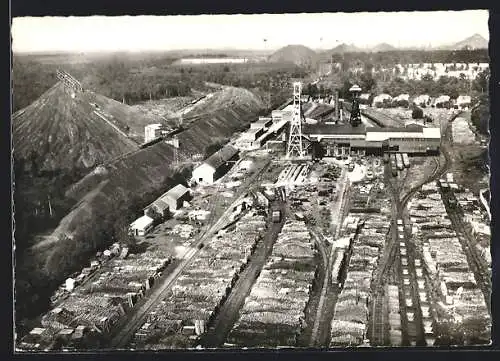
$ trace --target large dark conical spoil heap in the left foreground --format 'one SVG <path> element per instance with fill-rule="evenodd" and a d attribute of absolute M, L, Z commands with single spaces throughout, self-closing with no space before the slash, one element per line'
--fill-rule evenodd
<path fill-rule="evenodd" d="M 89 168 L 137 149 L 95 113 L 86 93 L 71 97 L 60 82 L 13 115 L 16 158 L 37 153 L 41 169 Z"/>

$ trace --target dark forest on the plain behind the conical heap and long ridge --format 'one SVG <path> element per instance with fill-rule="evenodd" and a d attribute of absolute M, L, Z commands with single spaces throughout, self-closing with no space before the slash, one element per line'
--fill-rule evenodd
<path fill-rule="evenodd" d="M 291 78 L 306 70 L 286 63 L 172 65 L 175 58 L 159 55 L 130 58 L 113 55 L 86 63 L 42 63 L 33 57 L 15 56 L 13 62 L 13 111 L 22 109 L 52 87 L 56 69 L 76 77 L 85 89 L 133 105 L 147 100 L 191 95 L 206 91 L 205 82 L 279 91 Z"/>

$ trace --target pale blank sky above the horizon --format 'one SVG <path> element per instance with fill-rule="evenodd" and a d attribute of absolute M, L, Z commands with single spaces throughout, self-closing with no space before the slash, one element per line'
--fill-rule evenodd
<path fill-rule="evenodd" d="M 14 52 L 278 49 L 341 43 L 439 46 L 473 34 L 489 39 L 486 10 L 196 16 L 21 17 Z M 264 42 L 267 39 L 267 42 Z"/>

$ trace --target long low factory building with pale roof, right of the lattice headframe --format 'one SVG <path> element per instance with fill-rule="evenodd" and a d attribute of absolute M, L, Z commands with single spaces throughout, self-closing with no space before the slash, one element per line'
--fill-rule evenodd
<path fill-rule="evenodd" d="M 439 152 L 441 144 L 439 128 L 415 124 L 391 128 L 306 124 L 303 134 L 314 144 L 313 149 L 322 149 L 327 157 L 386 152 L 435 154 Z"/>

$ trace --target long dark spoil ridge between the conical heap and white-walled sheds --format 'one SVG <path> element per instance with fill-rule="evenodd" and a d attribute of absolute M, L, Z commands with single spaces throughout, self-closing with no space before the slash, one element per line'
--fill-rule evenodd
<path fill-rule="evenodd" d="M 193 154 L 203 154 L 205 147 L 214 139 L 230 137 L 255 120 L 263 108 L 262 101 L 244 89 L 226 88 L 213 98 L 212 106 L 207 107 L 205 104 L 202 109 L 210 112 L 200 114 L 199 120 L 178 135 L 179 153 L 183 159 L 189 159 Z M 230 98 L 233 99 L 232 103 Z M 225 108 L 215 108 L 223 107 L 224 104 Z M 85 224 L 99 222 L 95 219 L 97 211 L 112 209 L 118 200 L 165 191 L 165 182 L 174 175 L 173 160 L 174 148 L 159 142 L 99 167 L 67 193 L 68 197 L 85 201 L 78 203 L 52 235 L 43 241 L 42 246 L 54 244 L 61 235 L 77 234 Z M 99 188 L 97 193 L 96 188 Z M 41 246 L 35 246 L 38 247 Z"/>

